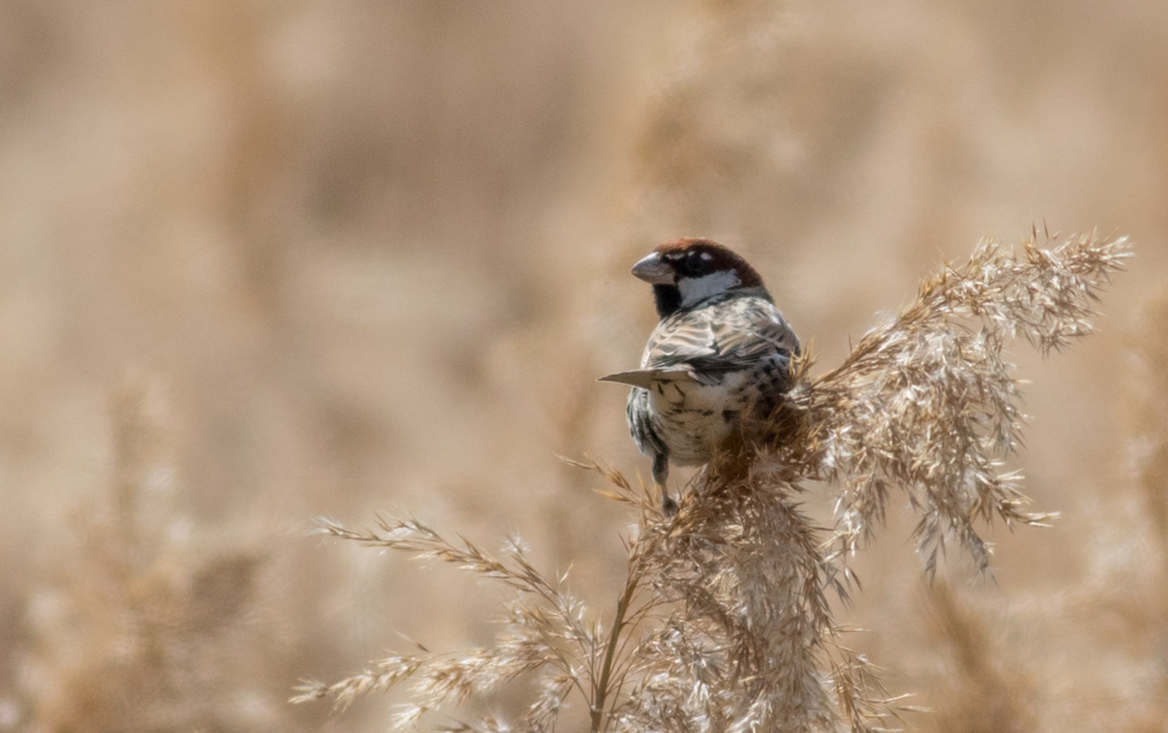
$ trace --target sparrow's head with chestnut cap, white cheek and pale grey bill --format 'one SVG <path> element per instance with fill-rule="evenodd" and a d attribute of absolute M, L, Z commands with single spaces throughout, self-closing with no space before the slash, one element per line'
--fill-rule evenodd
<path fill-rule="evenodd" d="M 666 242 L 633 265 L 633 274 L 653 286 L 662 319 L 728 291 L 750 288 L 769 298 L 746 260 L 709 239 Z"/>

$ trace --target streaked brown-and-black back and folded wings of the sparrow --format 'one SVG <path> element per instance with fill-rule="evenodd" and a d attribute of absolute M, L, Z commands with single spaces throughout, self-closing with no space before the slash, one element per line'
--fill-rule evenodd
<path fill-rule="evenodd" d="M 734 371 L 776 354 L 798 352 L 799 338 L 774 303 L 737 298 L 661 321 L 649 336 L 641 370 Z"/>

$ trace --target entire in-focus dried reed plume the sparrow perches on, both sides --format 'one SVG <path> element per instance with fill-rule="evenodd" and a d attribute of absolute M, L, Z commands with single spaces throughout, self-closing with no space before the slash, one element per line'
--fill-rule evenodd
<path fill-rule="evenodd" d="M 403 727 L 534 673 L 538 693 L 516 722 L 484 718 L 451 729 L 550 731 L 573 696 L 593 732 L 882 729 L 889 700 L 867 662 L 840 644 L 829 596 L 846 595 L 844 560 L 880 525 L 892 489 L 905 490 L 919 516 L 930 573 L 948 537 L 987 566 L 979 518 L 1048 518 L 1022 510 L 1027 498 L 1003 468 L 1022 416 L 1002 347 L 1022 335 L 1048 351 L 1090 333 L 1096 293 L 1127 243 L 1092 233 L 1048 244 L 1031 238 L 1014 253 L 983 243 L 968 263 L 927 280 L 840 368 L 812 378 L 809 361 L 798 365 L 769 439 L 711 462 L 673 517 L 651 491 L 590 465 L 639 519 L 606 626 L 564 578 L 536 571 L 517 542 L 495 558 L 413 519 L 357 531 L 325 522 L 332 536 L 452 563 L 516 593 L 489 649 L 392 656 L 332 685 L 310 683 L 294 699 L 343 707 L 409 680 Z M 799 509 L 808 480 L 836 493 L 833 531 Z"/>

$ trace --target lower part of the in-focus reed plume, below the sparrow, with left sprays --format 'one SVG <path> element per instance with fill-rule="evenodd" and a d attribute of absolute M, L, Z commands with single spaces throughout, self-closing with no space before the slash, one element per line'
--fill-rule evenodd
<path fill-rule="evenodd" d="M 793 487 L 757 477 L 721 482 L 708 473 L 700 482 L 711 490 L 688 494 L 668 519 L 652 490 L 633 489 L 614 469 L 585 467 L 604 474 L 616 487 L 609 496 L 640 519 L 607 627 L 590 620 L 563 578 L 538 573 L 519 542 L 496 558 L 416 519 L 382 519 L 375 530 L 325 521 L 321 530 L 334 537 L 451 563 L 516 596 L 488 649 L 419 648 L 333 684 L 307 683 L 293 700 L 329 698 L 343 708 L 409 679 L 411 703 L 395 721 L 403 728 L 536 672 L 538 692 L 516 725 L 484 718 L 450 729 L 551 731 L 573 693 L 591 731 L 829 731 L 840 708 L 851 729 L 875 729 L 868 721 L 883 711 L 867 697 L 867 663 L 830 643 L 837 629 L 825 586 L 833 572 Z"/>

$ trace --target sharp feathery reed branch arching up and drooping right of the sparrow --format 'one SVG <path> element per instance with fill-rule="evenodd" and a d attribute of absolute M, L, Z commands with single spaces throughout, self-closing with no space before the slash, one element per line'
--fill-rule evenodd
<path fill-rule="evenodd" d="M 1048 352 L 1091 333 L 1092 306 L 1128 257 L 1126 238 L 1037 232 L 1020 253 L 982 242 L 965 265 L 946 266 L 917 298 L 860 340 L 839 368 L 802 378 L 788 411 L 801 413 L 780 461 L 797 480 L 839 487 L 837 550 L 854 552 L 903 488 L 918 512 L 918 551 L 930 573 L 946 536 L 979 568 L 989 550 L 976 519 L 1043 524 L 1023 507 L 1003 459 L 1018 445 L 1022 414 L 1006 341 L 1022 336 Z"/>

